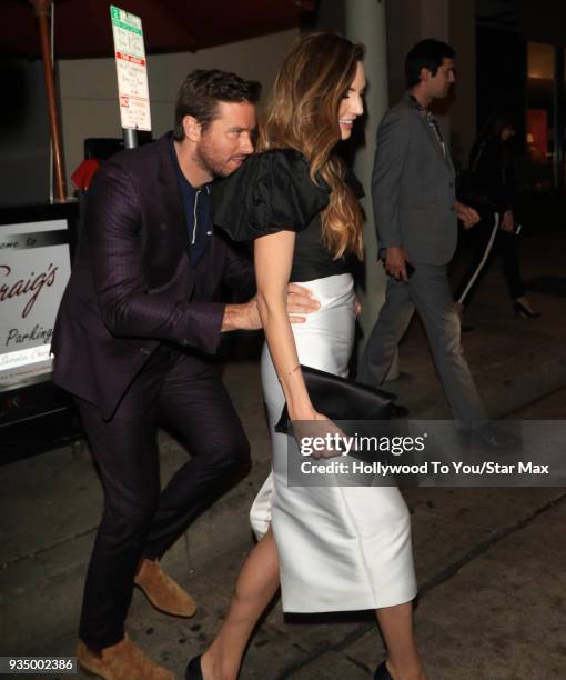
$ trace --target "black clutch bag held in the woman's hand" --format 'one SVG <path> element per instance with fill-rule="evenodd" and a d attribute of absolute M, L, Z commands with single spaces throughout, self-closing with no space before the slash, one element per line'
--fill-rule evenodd
<path fill-rule="evenodd" d="M 301 366 L 312 404 L 331 420 L 388 420 L 395 394 L 376 390 L 347 378 Z M 286 404 L 275 432 L 290 434 Z"/>

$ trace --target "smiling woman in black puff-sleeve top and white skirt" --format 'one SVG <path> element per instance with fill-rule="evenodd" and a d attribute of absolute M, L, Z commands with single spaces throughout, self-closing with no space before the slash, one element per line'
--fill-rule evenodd
<path fill-rule="evenodd" d="M 335 33 L 302 38 L 279 72 L 260 152 L 213 191 L 214 224 L 235 240 L 255 239 L 273 472 L 252 509 L 260 541 L 216 639 L 189 663 L 188 680 L 237 677 L 249 637 L 280 582 L 285 612 L 374 609 L 387 647 L 375 678 L 425 678 L 413 639 L 410 518 L 398 490 L 289 487 L 286 437 L 273 430 L 285 402 L 291 420 L 326 420 L 311 403 L 300 363 L 347 373 L 355 324 L 350 263 L 362 257 L 362 211 L 360 186 L 332 151 L 363 113 L 362 57 L 361 46 Z M 321 303 L 293 327 L 289 281 Z"/>

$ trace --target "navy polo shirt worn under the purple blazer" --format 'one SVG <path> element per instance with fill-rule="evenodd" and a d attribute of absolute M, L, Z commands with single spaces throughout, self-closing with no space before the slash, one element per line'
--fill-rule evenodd
<path fill-rule="evenodd" d="M 189 239 L 189 257 L 191 264 L 196 266 L 212 239 L 210 221 L 210 184 L 195 189 L 185 178 L 176 158 L 173 139 L 170 139 L 170 151 L 176 170 L 179 189 L 183 198 L 186 233 Z"/>

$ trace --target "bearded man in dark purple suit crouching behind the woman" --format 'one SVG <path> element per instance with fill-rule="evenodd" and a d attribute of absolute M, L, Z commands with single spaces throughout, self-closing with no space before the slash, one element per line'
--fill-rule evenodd
<path fill-rule="evenodd" d="M 110 159 L 88 197 L 53 339 L 54 382 L 73 394 L 104 488 L 79 629 L 81 664 L 103 678 L 173 678 L 133 644 L 124 621 L 134 582 L 158 609 L 194 613 L 160 569 L 190 522 L 249 468 L 249 443 L 212 366 L 222 332 L 261 327 L 253 268 L 209 218 L 210 184 L 253 151 L 260 84 L 193 71 L 172 133 Z M 290 311 L 316 303 L 291 287 Z M 191 458 L 161 492 L 158 423 Z"/>

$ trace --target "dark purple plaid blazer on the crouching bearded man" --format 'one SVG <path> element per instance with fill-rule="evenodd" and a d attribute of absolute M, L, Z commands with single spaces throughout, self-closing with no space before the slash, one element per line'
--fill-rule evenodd
<path fill-rule="evenodd" d="M 89 190 L 53 331 L 53 382 L 111 418 L 161 341 L 214 353 L 220 284 L 250 288 L 251 278 L 251 264 L 218 236 L 192 268 L 168 136 L 114 156 Z"/>

